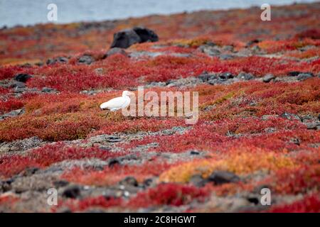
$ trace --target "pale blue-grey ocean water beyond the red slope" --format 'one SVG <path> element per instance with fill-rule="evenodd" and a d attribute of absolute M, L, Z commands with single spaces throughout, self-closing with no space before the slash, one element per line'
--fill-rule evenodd
<path fill-rule="evenodd" d="M 0 27 L 48 23 L 48 4 L 58 6 L 58 21 L 104 21 L 202 9 L 232 9 L 312 2 L 313 0 L 0 0 Z"/>

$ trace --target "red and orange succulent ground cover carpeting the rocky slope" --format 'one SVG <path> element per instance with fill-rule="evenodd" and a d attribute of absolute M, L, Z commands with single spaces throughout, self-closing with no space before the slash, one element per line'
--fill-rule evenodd
<path fill-rule="evenodd" d="M 319 9 L 274 7 L 271 22 L 252 8 L 1 30 L 0 211 L 319 212 Z M 137 25 L 159 42 L 105 57 L 113 33 Z M 46 64 L 55 57 L 68 61 Z M 252 79 L 199 82 L 225 72 Z M 15 85 L 21 73 L 32 78 Z M 198 122 L 105 118 L 102 102 L 139 85 L 198 92 Z M 250 200 L 262 187 L 270 206 Z"/>

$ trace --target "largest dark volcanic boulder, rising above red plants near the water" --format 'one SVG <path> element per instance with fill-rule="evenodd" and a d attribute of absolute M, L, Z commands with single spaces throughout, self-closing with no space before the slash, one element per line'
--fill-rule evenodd
<path fill-rule="evenodd" d="M 158 41 L 158 35 L 149 28 L 133 28 L 119 31 L 113 35 L 113 42 L 111 48 L 129 48 L 135 43 L 144 43 L 147 41 Z"/>

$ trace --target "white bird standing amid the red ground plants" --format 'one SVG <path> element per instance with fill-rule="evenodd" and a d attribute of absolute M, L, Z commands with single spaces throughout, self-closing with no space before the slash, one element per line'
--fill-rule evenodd
<path fill-rule="evenodd" d="M 110 99 L 107 102 L 104 102 L 100 105 L 102 110 L 108 109 L 110 111 L 117 111 L 119 109 L 124 109 L 130 104 L 130 96 L 134 95 L 132 92 L 124 91 L 122 92 L 121 97 L 117 97 L 114 99 Z M 108 116 L 109 112 L 107 112 L 106 117 Z"/>

